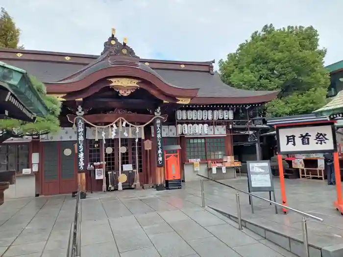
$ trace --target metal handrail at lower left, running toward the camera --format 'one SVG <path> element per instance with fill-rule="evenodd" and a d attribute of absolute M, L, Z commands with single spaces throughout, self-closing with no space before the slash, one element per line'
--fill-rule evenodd
<path fill-rule="evenodd" d="M 67 257 L 81 256 L 81 192 L 77 190 L 74 220 L 71 224 L 70 235 L 68 240 Z"/>

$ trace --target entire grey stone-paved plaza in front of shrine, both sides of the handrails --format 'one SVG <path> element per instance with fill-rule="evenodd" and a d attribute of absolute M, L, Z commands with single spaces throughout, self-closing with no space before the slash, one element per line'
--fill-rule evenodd
<path fill-rule="evenodd" d="M 246 178 L 222 181 L 246 189 Z M 235 191 L 206 181 L 206 205 L 236 213 Z M 278 181 L 275 180 L 280 201 Z M 336 193 L 321 181 L 286 180 L 289 205 L 324 218 L 309 221 L 310 242 L 343 243 L 343 217 L 332 206 Z M 258 193 L 268 197 L 267 193 Z M 301 235 L 301 216 L 274 214 L 269 204 L 241 194 L 242 216 Z M 71 195 L 6 201 L 0 206 L 0 255 L 65 257 L 75 199 Z M 295 257 L 209 208 L 201 208 L 199 182 L 182 189 L 123 190 L 82 200 L 82 257 Z"/>

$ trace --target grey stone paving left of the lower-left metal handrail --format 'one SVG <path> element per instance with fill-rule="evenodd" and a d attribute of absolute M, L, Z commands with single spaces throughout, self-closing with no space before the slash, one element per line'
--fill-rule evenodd
<path fill-rule="evenodd" d="M 5 201 L 0 206 L 0 256 L 66 257 L 74 209 L 70 195 Z"/>

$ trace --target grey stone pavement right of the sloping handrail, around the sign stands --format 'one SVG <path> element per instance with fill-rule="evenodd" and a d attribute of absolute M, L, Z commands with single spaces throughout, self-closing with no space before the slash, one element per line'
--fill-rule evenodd
<path fill-rule="evenodd" d="M 221 180 L 222 183 L 247 190 L 247 178 Z M 199 183 L 189 183 L 187 191 L 200 199 Z M 325 247 L 330 245 L 343 244 L 343 216 L 333 206 L 333 201 L 337 199 L 334 186 L 328 186 L 326 181 L 320 180 L 285 180 L 288 206 L 307 212 L 324 219 L 321 223 L 308 219 L 309 243 Z M 276 201 L 281 202 L 281 192 L 279 179 L 274 179 Z M 192 191 L 193 190 L 193 191 Z M 236 191 L 216 184 L 211 181 L 204 182 L 206 205 L 218 208 L 227 213 L 237 215 Z M 265 198 L 269 198 L 268 192 L 254 192 Z M 279 208 L 279 214 L 275 214 L 273 206 L 259 199 L 254 199 L 254 214 L 248 202 L 248 196 L 240 193 L 242 218 L 260 226 L 278 231 L 281 234 L 293 236 L 302 240 L 301 215 L 289 211 L 283 213 Z"/>

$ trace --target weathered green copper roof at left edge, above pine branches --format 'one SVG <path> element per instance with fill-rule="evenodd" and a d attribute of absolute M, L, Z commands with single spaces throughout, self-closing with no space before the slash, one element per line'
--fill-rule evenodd
<path fill-rule="evenodd" d="M 0 81 L 32 114 L 39 117 L 48 115 L 48 107 L 33 87 L 25 70 L 0 62 Z"/>

